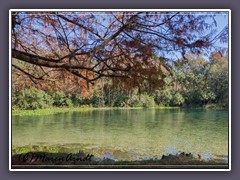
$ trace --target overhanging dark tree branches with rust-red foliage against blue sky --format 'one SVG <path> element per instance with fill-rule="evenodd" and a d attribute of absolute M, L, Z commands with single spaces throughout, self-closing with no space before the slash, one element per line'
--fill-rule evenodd
<path fill-rule="evenodd" d="M 102 77 L 122 87 L 162 86 L 165 59 L 198 53 L 226 40 L 213 36 L 214 13 L 199 12 L 12 12 L 12 66 L 38 83 Z M 14 71 L 14 72 L 15 72 Z M 54 84 L 54 83 L 53 83 Z"/>

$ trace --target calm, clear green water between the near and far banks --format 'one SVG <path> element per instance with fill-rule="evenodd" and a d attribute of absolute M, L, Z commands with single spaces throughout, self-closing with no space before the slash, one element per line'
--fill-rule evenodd
<path fill-rule="evenodd" d="M 206 110 L 91 110 L 12 117 L 12 144 L 79 144 L 132 157 L 177 151 L 228 155 L 228 112 Z"/>

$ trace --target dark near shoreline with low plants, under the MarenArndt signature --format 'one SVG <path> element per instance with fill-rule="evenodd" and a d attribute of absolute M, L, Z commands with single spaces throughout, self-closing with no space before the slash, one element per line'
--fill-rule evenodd
<path fill-rule="evenodd" d="M 112 168 L 126 168 L 131 166 L 132 168 L 218 168 L 219 166 L 228 167 L 228 157 L 227 156 L 212 156 L 212 158 L 204 159 L 200 155 L 196 156 L 192 153 L 186 153 L 179 151 L 176 154 L 162 154 L 158 157 L 141 157 L 140 159 L 127 158 L 119 159 L 114 153 L 107 153 L 104 156 L 97 155 L 91 150 L 86 150 L 83 147 L 80 148 L 78 152 L 73 149 L 64 149 L 62 146 L 25 146 L 25 147 L 14 147 L 12 150 L 12 165 L 16 167 L 29 166 L 32 168 L 41 166 L 41 168 L 58 166 L 69 166 L 69 168 L 74 168 L 74 166 L 87 166 L 83 168 L 102 167 L 102 166 L 113 166 Z M 124 152 L 122 152 L 124 153 Z M 125 152 L 127 153 L 127 152 Z M 70 160 L 69 160 L 69 157 Z M 89 157 L 93 157 L 92 159 Z M 121 157 L 121 156 L 120 156 Z M 227 158 L 227 159 L 225 159 Z M 80 161 L 79 161 L 80 159 Z M 82 161 L 81 159 L 88 159 Z M 56 166 L 57 165 L 57 166 Z M 115 166 L 115 167 L 114 167 Z"/>

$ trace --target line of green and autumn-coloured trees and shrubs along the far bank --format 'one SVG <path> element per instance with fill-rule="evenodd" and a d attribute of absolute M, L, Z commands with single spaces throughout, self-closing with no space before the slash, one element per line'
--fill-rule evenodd
<path fill-rule="evenodd" d="M 82 81 L 73 88 L 66 81 L 53 86 L 44 86 L 44 83 L 39 86 L 17 76 L 13 71 L 13 81 L 16 83 L 12 85 L 12 106 L 13 109 L 81 106 L 227 109 L 228 54 L 213 52 L 209 58 L 187 55 L 187 59 L 188 63 L 184 59 L 172 62 L 165 59 L 171 73 L 164 79 L 163 86 L 156 86 L 159 88 L 144 83 L 141 87 L 127 88 L 110 79 L 99 79 L 91 86 Z"/>

